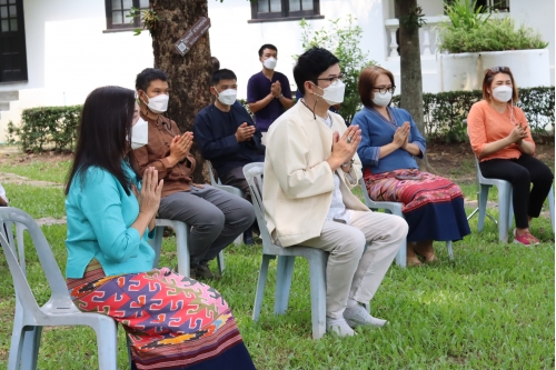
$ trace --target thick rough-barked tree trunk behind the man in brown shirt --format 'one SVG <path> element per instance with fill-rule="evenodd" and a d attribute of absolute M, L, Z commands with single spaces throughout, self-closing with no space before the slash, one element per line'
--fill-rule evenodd
<path fill-rule="evenodd" d="M 155 68 L 168 73 L 170 101 L 166 116 L 176 121 L 181 132 L 192 131 L 195 116 L 210 104 L 210 61 L 209 34 L 206 32 L 181 57 L 175 43 L 200 18 L 208 18 L 207 0 L 150 0 L 160 20 L 150 30 L 155 52 Z M 193 182 L 208 182 L 205 160 L 196 144 L 191 154 L 197 160 Z"/>

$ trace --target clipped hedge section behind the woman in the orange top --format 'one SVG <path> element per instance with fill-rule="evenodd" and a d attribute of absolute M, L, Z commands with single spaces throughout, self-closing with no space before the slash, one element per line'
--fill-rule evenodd
<path fill-rule="evenodd" d="M 554 87 L 519 89 L 517 107 L 522 108 L 535 137 L 554 137 Z M 399 96 L 393 104 L 399 107 Z M 423 93 L 425 134 L 429 140 L 467 141 L 463 120 L 471 106 L 483 99 L 480 90 Z"/>

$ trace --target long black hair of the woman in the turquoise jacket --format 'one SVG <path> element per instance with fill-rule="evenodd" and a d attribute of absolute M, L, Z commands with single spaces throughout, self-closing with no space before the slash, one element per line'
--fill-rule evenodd
<path fill-rule="evenodd" d="M 73 164 L 68 174 L 64 192 L 68 194 L 77 176 L 85 183 L 87 170 L 98 167 L 111 173 L 130 194 L 130 179 L 121 167 L 129 149 L 135 110 L 135 91 L 108 86 L 97 88 L 85 100 L 78 128 Z"/>

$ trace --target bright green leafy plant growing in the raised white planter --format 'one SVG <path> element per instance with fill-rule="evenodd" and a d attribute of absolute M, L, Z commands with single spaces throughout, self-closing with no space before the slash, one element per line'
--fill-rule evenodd
<path fill-rule="evenodd" d="M 475 9 L 475 10 L 473 10 Z M 445 6 L 449 22 L 439 26 L 439 50 L 449 53 L 544 49 L 547 42 L 540 34 L 520 26 L 516 29 L 510 18 L 494 19 L 481 13 L 469 0 L 457 0 Z"/>

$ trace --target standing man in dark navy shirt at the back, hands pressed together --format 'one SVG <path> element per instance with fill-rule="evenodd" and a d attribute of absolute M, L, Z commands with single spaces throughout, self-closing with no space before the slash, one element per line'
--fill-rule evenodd
<path fill-rule="evenodd" d="M 274 44 L 266 43 L 259 49 L 259 60 L 262 71 L 251 76 L 247 83 L 247 102 L 255 114 L 257 129 L 265 136 L 272 122 L 294 106 L 288 78 L 276 72 L 278 49 Z"/>

